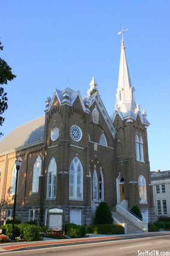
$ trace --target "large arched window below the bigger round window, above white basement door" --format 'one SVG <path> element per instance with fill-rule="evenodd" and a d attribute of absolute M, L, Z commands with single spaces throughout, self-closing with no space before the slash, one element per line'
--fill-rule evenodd
<path fill-rule="evenodd" d="M 70 164 L 69 198 L 83 199 L 83 167 L 78 157 L 73 158 Z"/>

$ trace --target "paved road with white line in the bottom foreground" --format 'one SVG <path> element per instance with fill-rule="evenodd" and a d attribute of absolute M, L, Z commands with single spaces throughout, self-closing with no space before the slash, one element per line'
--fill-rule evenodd
<path fill-rule="evenodd" d="M 144 253 L 144 254 L 143 254 Z M 158 254 L 157 254 L 158 253 Z M 163 253 L 163 254 L 162 254 Z M 0 253 L 8 256 L 170 256 L 170 235 Z"/>

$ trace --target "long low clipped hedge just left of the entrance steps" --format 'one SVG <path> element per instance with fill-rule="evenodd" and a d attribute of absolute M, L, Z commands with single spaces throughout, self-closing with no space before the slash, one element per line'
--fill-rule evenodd
<path fill-rule="evenodd" d="M 118 224 L 89 225 L 87 232 L 93 234 L 124 234 L 124 228 Z"/>

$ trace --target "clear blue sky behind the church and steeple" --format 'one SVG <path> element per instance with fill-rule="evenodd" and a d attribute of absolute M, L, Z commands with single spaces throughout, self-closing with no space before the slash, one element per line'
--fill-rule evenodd
<path fill-rule="evenodd" d="M 170 1 L 6 0 L 0 4 L 1 57 L 17 77 L 0 130 L 44 114 L 54 89 L 80 89 L 92 76 L 110 115 L 116 101 L 122 25 L 135 100 L 146 107 L 151 170 L 170 170 Z M 0 138 L 2 139 L 2 138 Z"/>

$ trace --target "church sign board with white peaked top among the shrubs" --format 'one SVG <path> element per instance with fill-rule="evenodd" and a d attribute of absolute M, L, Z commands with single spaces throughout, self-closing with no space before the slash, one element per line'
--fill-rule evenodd
<path fill-rule="evenodd" d="M 63 210 L 54 208 L 48 211 L 47 230 L 63 231 Z"/>

